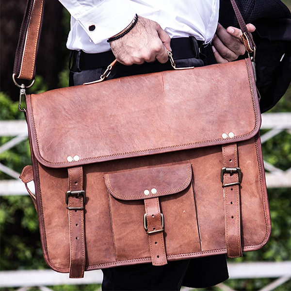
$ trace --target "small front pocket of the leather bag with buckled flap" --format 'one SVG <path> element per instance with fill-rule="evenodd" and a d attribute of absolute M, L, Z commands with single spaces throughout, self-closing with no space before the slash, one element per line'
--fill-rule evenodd
<path fill-rule="evenodd" d="M 151 258 L 162 265 L 167 256 L 201 252 L 190 163 L 107 173 L 104 178 L 117 261 Z"/>

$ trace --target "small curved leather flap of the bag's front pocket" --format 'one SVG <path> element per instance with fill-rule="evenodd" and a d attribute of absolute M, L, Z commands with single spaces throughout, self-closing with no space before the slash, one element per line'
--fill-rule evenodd
<path fill-rule="evenodd" d="M 192 179 L 191 164 L 170 164 L 104 175 L 108 191 L 121 200 L 138 200 L 174 194 Z"/>

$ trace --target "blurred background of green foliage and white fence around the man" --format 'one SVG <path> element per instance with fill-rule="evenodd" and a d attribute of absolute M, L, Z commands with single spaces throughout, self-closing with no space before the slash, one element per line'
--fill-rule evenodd
<path fill-rule="evenodd" d="M 291 9 L 291 0 L 283 2 Z M 31 164 L 24 116 L 17 108 L 19 89 L 11 79 L 25 5 L 24 0 L 6 0 L 1 1 L 0 7 L 0 290 L 99 290 L 100 272 L 87 272 L 92 274 L 90 278 L 77 283 L 74 279 L 68 281 L 67 274 L 53 277 L 53 271 L 46 271 L 49 268 L 43 259 L 37 213 L 16 180 L 22 168 Z M 46 1 L 37 75 L 29 93 L 68 86 L 65 42 L 69 24 L 70 16 L 62 5 L 57 0 Z M 272 110 L 263 114 L 261 136 L 273 227 L 271 239 L 259 251 L 229 259 L 230 279 L 224 284 L 199 290 L 291 290 L 291 87 Z"/>

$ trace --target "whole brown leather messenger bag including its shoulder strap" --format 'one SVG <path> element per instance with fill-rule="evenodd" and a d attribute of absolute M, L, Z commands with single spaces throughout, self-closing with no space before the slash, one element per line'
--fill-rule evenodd
<path fill-rule="evenodd" d="M 14 80 L 34 78 L 42 13 L 43 0 L 28 1 Z M 252 60 L 100 82 L 110 65 L 95 83 L 37 95 L 18 85 L 32 154 L 20 178 L 34 180 L 52 269 L 79 278 L 122 265 L 240 257 L 268 241 Z"/>

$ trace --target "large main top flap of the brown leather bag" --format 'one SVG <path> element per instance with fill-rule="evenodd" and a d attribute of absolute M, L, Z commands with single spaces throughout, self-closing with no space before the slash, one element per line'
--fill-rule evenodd
<path fill-rule="evenodd" d="M 249 59 L 28 95 L 27 119 L 55 168 L 240 142 L 261 122 Z"/>

